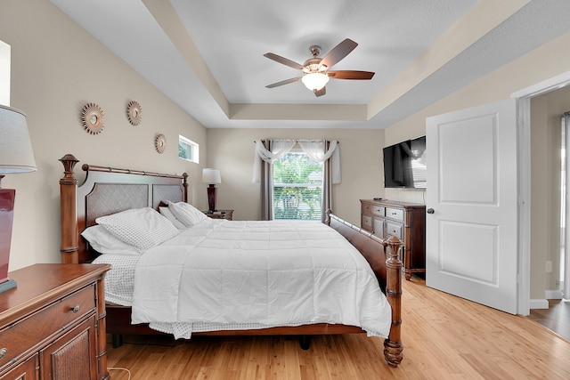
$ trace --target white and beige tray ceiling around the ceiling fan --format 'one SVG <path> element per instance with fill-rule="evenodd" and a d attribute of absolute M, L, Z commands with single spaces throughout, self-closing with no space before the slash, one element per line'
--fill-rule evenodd
<path fill-rule="evenodd" d="M 52 0 L 206 127 L 384 128 L 570 29 L 567 0 Z M 88 10 L 88 12 L 86 12 Z M 315 97 L 309 47 L 359 45 Z"/>

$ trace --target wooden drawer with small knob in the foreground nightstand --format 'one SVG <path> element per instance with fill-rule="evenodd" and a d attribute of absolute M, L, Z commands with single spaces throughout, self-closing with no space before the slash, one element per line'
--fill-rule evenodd
<path fill-rule="evenodd" d="M 95 286 L 91 285 L 4 328 L 0 331 L 0 370 L 33 349 L 30 342 L 38 345 L 63 333 L 95 309 Z"/>

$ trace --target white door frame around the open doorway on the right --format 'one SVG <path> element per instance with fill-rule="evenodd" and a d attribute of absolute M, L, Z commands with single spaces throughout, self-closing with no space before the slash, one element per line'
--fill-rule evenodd
<path fill-rule="evenodd" d="M 530 313 L 531 295 L 531 99 L 570 85 L 570 71 L 511 93 L 517 100 L 518 314 Z"/>

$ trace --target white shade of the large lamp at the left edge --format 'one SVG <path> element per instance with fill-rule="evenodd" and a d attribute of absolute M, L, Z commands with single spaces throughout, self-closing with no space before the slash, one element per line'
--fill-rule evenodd
<path fill-rule="evenodd" d="M 0 105 L 0 174 L 37 170 L 26 115 Z"/>

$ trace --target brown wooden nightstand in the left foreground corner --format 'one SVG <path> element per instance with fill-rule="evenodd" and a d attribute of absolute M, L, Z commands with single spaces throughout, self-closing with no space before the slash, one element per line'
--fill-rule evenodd
<path fill-rule="evenodd" d="M 35 264 L 0 293 L 0 380 L 102 380 L 108 264 Z"/>

